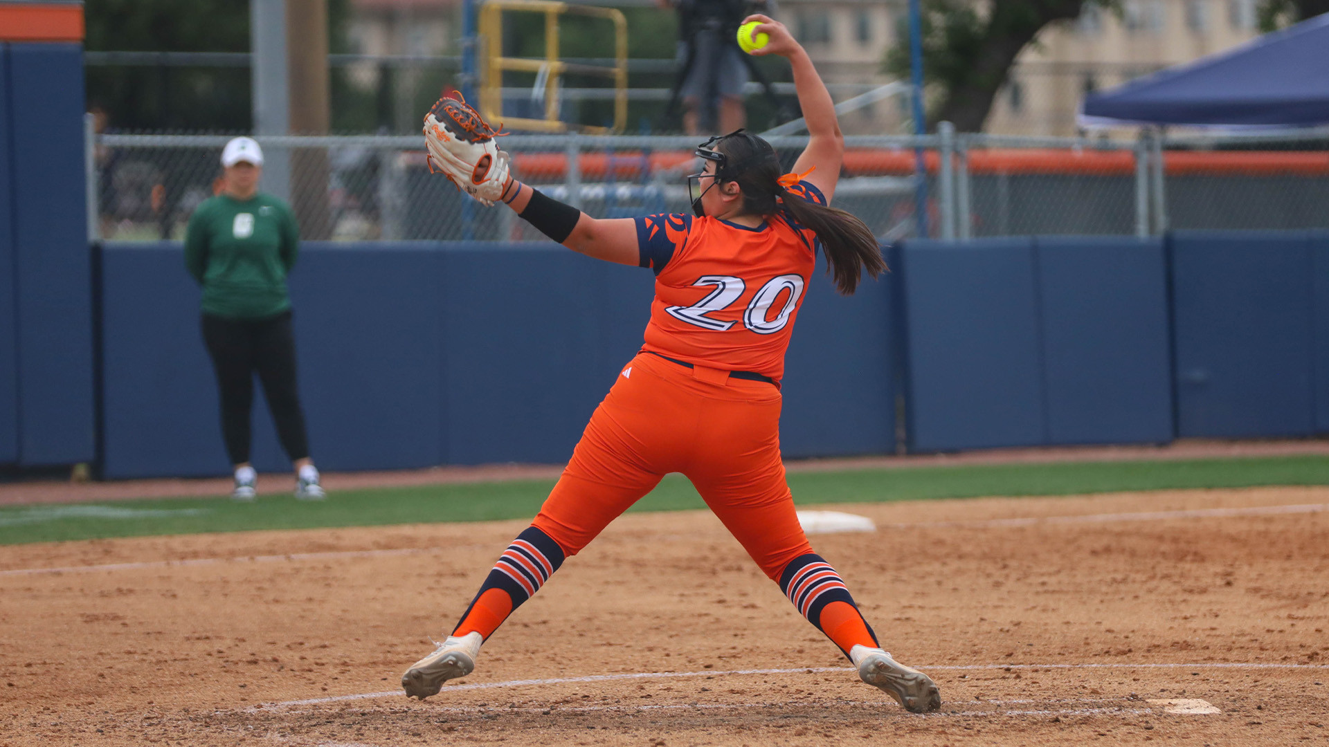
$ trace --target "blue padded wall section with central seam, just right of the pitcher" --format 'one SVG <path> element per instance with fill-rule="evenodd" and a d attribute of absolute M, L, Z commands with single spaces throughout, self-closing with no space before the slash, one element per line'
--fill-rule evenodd
<path fill-rule="evenodd" d="M 1172 439 L 1159 239 L 910 241 L 912 451 Z"/>

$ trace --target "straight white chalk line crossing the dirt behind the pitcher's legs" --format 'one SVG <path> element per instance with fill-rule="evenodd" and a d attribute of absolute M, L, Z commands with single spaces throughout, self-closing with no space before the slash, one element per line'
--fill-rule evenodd
<path fill-rule="evenodd" d="M 1034 518 L 987 518 L 979 521 L 920 521 L 914 524 L 884 524 L 884 529 L 920 529 L 938 526 L 962 526 L 978 529 L 995 529 L 1009 526 L 1033 526 L 1038 524 L 1100 524 L 1110 521 L 1170 521 L 1174 518 L 1223 518 L 1237 516 L 1280 516 L 1297 513 L 1329 512 L 1329 504 L 1301 504 L 1281 506 L 1252 506 L 1252 508 L 1201 508 L 1185 510 L 1158 510 L 1142 513 L 1094 513 L 1087 516 L 1045 516 Z M 469 545 L 468 549 L 478 549 L 481 545 Z M 336 550 L 326 553 L 288 553 L 280 556 L 239 556 L 230 558 L 191 558 L 167 561 L 117 562 L 104 565 L 70 565 L 64 568 L 19 568 L 0 570 L 4 576 L 39 576 L 58 573 L 92 573 L 98 570 L 142 570 L 150 568 L 177 568 L 213 565 L 225 562 L 278 562 L 278 561 L 307 561 L 307 560 L 335 560 L 335 558 L 369 558 L 387 556 L 408 556 L 417 553 L 433 553 L 453 548 L 401 548 L 396 550 Z"/>

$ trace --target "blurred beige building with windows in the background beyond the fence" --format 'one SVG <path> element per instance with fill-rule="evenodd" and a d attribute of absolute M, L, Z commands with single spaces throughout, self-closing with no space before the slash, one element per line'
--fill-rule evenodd
<path fill-rule="evenodd" d="M 603 0 L 597 0 L 603 4 Z M 613 3 L 609 3 L 613 4 Z M 625 5 L 654 0 L 623 0 Z M 1259 35 L 1259 0 L 1122 0 L 1120 13 L 1088 7 L 1057 23 L 1017 58 L 998 92 L 985 130 L 1071 136 L 1084 93 L 1228 49 Z M 355 52 L 407 57 L 459 53 L 461 0 L 351 0 L 348 36 Z M 829 84 L 885 85 L 882 60 L 908 39 L 908 0 L 779 0 L 777 16 L 808 49 Z M 400 124 L 415 118 L 417 92 L 435 94 L 439 70 L 427 64 L 361 62 L 351 80 L 391 97 Z M 395 80 L 388 80 L 395 78 Z M 396 93 L 391 93 L 396 92 Z M 425 97 L 428 97 L 425 94 Z M 837 90 L 843 100 L 852 93 Z M 392 129 L 392 122 L 385 122 Z M 841 117 L 847 133 L 900 133 L 909 128 L 905 97 Z"/>

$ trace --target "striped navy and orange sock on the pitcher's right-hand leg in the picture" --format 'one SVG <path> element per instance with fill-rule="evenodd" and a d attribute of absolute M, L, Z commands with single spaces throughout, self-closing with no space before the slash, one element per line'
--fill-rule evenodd
<path fill-rule="evenodd" d="M 780 574 L 780 590 L 845 657 L 857 645 L 880 647 L 877 634 L 853 603 L 849 587 L 821 556 L 808 553 L 789 561 Z"/>

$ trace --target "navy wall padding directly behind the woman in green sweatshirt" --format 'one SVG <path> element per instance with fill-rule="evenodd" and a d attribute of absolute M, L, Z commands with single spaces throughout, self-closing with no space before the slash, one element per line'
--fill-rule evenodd
<path fill-rule="evenodd" d="M 102 257 L 106 475 L 229 472 L 199 291 L 179 245 L 110 245 Z M 290 284 L 315 463 L 334 471 L 443 463 L 437 245 L 307 243 Z M 290 471 L 256 381 L 253 428 L 255 467 Z"/>

